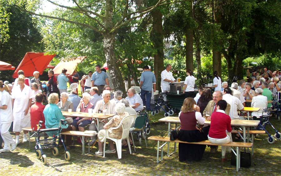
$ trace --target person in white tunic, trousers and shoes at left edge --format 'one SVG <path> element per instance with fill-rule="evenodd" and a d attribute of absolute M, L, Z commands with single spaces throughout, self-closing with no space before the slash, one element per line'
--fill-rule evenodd
<path fill-rule="evenodd" d="M 9 128 L 13 121 L 13 111 L 9 87 L 4 85 L 2 81 L 0 81 L 0 92 L 0 131 L 4 141 L 4 148 L 0 152 L 9 152 L 16 149 L 16 142 L 13 141 L 9 133 Z"/>

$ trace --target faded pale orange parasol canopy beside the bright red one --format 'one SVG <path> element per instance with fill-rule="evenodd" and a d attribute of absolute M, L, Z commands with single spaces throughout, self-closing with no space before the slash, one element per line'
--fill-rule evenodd
<path fill-rule="evenodd" d="M 79 56 L 77 58 L 71 58 L 69 61 L 61 61 L 53 69 L 55 76 L 58 76 L 62 73 L 62 69 L 67 69 L 66 76 L 70 76 L 75 71 L 78 63 L 81 63 L 86 56 Z"/>

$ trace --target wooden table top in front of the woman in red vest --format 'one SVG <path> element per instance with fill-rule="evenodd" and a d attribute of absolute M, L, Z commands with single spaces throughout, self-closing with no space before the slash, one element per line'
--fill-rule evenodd
<path fill-rule="evenodd" d="M 158 120 L 159 122 L 180 123 L 179 117 L 164 117 Z M 231 126 L 257 127 L 259 120 L 231 120 Z M 210 125 L 211 121 L 205 120 L 205 125 Z"/>

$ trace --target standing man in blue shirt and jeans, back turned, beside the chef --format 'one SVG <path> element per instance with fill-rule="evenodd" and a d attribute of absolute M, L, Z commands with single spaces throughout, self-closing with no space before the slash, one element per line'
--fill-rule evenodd
<path fill-rule="evenodd" d="M 148 66 L 143 67 L 143 72 L 141 73 L 141 99 L 143 104 L 146 106 L 146 110 L 151 110 L 150 108 L 150 100 L 152 94 L 152 85 L 153 85 L 153 92 L 156 91 L 155 88 L 155 75 L 149 70 Z"/>

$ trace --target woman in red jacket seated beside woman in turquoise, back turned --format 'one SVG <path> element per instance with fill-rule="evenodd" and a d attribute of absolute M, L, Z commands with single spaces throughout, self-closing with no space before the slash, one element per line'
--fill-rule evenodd
<path fill-rule="evenodd" d="M 43 98 L 44 98 L 44 95 L 42 93 L 36 94 L 35 95 L 35 104 L 33 104 L 30 107 L 30 123 L 31 123 L 31 129 L 33 131 L 37 130 L 37 125 L 39 124 L 39 121 L 43 122 L 41 129 L 45 129 L 45 117 L 43 114 L 45 105 L 42 105 Z"/>

